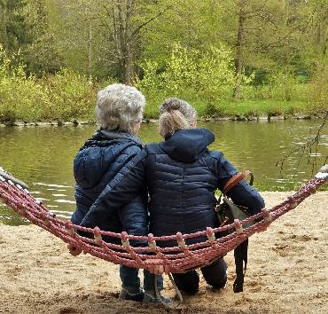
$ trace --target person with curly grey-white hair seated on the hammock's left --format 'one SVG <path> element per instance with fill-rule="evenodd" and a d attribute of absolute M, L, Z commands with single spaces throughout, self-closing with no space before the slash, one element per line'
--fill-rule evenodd
<path fill-rule="evenodd" d="M 144 145 L 137 137 L 137 132 L 143 118 L 144 104 L 142 93 L 127 85 L 112 84 L 98 91 L 96 117 L 100 128 L 82 145 L 74 159 L 76 210 L 71 219 L 73 224 L 82 222 L 105 186 L 143 148 Z M 103 208 L 105 215 L 92 219 L 90 225 L 98 226 L 103 231 L 125 231 L 134 235 L 147 235 L 147 201 L 146 189 L 139 189 L 120 210 Z M 81 233 L 88 236 L 85 234 L 87 232 Z M 121 245 L 121 239 L 113 237 L 103 237 L 103 239 Z M 131 245 L 146 246 L 147 242 L 131 241 Z M 68 249 L 72 255 L 81 253 L 81 250 L 72 245 L 69 245 Z M 153 297 L 144 299 L 138 271 L 120 265 L 122 289 L 119 298 L 139 302 L 160 302 L 154 297 L 154 275 L 149 271 L 144 271 L 144 291 Z M 157 280 L 158 288 L 161 290 L 163 279 L 158 277 Z M 165 301 L 170 300 L 165 298 Z"/>

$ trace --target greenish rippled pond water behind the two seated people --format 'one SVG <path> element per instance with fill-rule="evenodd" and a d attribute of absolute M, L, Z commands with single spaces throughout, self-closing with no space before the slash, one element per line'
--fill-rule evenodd
<path fill-rule="evenodd" d="M 260 191 L 275 191 L 299 188 L 324 164 L 328 156 L 327 126 L 311 150 L 303 149 L 316 137 L 323 122 L 219 121 L 199 122 L 197 126 L 215 133 L 210 149 L 223 151 L 239 171 L 254 173 Z M 75 208 L 74 156 L 96 129 L 96 125 L 1 127 L 0 167 L 28 184 L 35 199 L 43 200 L 60 219 L 69 219 Z M 143 123 L 138 136 L 145 144 L 161 140 L 156 123 Z M 279 161 L 289 154 L 281 169 Z M 0 205 L 0 223 L 28 224 L 4 204 Z"/>

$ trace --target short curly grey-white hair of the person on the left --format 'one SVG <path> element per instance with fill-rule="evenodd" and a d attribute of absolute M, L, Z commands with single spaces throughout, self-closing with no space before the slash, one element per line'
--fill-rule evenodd
<path fill-rule="evenodd" d="M 144 95 L 135 87 L 115 83 L 98 91 L 95 114 L 100 128 L 132 133 L 143 119 Z"/>

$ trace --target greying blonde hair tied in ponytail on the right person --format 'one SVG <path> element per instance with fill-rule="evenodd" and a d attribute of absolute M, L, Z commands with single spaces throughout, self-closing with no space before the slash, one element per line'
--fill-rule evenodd
<path fill-rule="evenodd" d="M 191 129 L 197 122 L 195 108 L 179 98 L 168 98 L 160 105 L 159 130 L 165 137 L 176 130 Z"/>

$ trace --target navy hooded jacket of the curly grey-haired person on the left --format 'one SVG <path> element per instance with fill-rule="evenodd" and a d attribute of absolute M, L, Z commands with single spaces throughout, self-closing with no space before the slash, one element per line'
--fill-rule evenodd
<path fill-rule="evenodd" d="M 97 130 L 88 139 L 74 159 L 76 210 L 72 216 L 73 224 L 80 224 L 98 199 L 105 186 L 143 147 L 141 140 L 133 134 Z M 101 230 L 129 234 L 147 234 L 147 192 L 138 189 L 127 205 L 108 208 L 102 204 L 102 216 L 90 219 L 89 227 L 98 226 Z M 88 233 L 83 234 L 88 236 Z M 89 234 L 90 236 L 90 234 Z M 103 237 L 106 241 L 121 244 L 121 239 Z M 142 243 L 132 243 L 134 246 Z"/>

